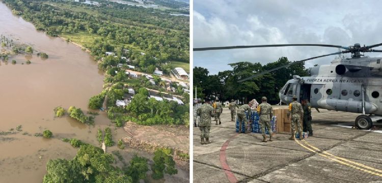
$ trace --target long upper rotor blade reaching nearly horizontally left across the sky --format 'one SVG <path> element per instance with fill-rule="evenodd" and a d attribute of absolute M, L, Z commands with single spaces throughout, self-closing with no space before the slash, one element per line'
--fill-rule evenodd
<path fill-rule="evenodd" d="M 205 48 L 194 48 L 194 51 L 206 51 L 206 50 L 223 50 L 223 49 L 240 49 L 240 48 L 264 48 L 264 47 L 283 47 L 283 46 L 322 46 L 322 47 L 332 47 L 341 48 L 349 50 L 349 47 L 339 46 L 339 45 L 328 45 L 328 44 L 273 44 L 273 45 L 252 45 L 252 46 L 223 46 L 223 47 L 205 47 Z M 374 45 L 372 45 L 374 46 Z"/>

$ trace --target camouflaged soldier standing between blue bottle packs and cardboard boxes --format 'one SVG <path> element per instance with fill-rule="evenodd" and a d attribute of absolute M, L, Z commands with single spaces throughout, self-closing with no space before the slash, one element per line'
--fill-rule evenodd
<path fill-rule="evenodd" d="M 260 128 L 261 128 L 261 133 L 263 134 L 263 142 L 266 142 L 266 137 L 265 137 L 265 126 L 268 129 L 269 132 L 269 141 L 272 140 L 272 127 L 270 126 L 270 119 L 273 116 L 272 113 L 272 106 L 266 102 L 266 97 L 261 98 L 261 104 L 257 107 L 257 113 L 259 114 L 260 117 Z"/>

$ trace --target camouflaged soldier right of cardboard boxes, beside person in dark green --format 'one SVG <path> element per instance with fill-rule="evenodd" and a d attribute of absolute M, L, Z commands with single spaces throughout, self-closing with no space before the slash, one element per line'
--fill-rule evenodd
<path fill-rule="evenodd" d="M 293 102 L 289 104 L 288 118 L 292 114 L 292 120 L 290 123 L 290 128 L 292 130 L 292 136 L 289 140 L 294 140 L 295 126 L 297 126 L 298 133 L 300 135 L 300 140 L 303 140 L 303 132 L 301 131 L 301 116 L 304 114 L 303 107 L 297 102 L 297 97 L 293 96 Z"/>

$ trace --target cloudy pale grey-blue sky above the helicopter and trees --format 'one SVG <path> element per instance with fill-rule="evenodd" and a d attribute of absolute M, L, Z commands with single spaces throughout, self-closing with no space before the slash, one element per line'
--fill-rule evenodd
<path fill-rule="evenodd" d="M 350 3 L 352 2 L 352 3 Z M 194 48 L 260 44 L 382 43 L 382 1 L 194 0 Z M 382 49 L 378 47 L 376 49 Z M 301 60 L 337 52 L 337 48 L 283 47 L 196 51 L 194 67 L 210 74 L 231 70 L 227 64 L 267 64 L 286 56 Z M 366 53 L 382 56 L 380 53 Z M 350 56 L 350 54 L 345 54 Z M 335 56 L 306 62 L 330 64 Z"/>

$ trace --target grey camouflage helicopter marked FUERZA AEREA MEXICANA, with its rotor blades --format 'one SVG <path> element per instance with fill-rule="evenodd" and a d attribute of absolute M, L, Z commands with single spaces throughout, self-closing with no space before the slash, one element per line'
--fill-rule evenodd
<path fill-rule="evenodd" d="M 310 99 L 312 107 L 317 110 L 321 108 L 362 113 L 356 118 L 355 124 L 359 129 L 363 130 L 370 129 L 373 123 L 382 122 L 382 95 L 380 94 L 380 92 L 382 93 L 382 57 L 369 57 L 363 54 L 365 52 L 382 52 L 382 50 L 371 49 L 382 46 L 382 43 L 370 46 L 361 46 L 359 43 L 353 46 L 328 44 L 227 46 L 194 48 L 194 51 L 283 46 L 321 46 L 339 48 L 343 49 L 343 51 L 298 60 L 288 65 L 257 73 L 238 82 L 243 82 L 307 60 L 351 53 L 350 58 L 336 58 L 331 62 L 331 65 L 309 68 L 309 76 L 300 77 L 294 75 L 280 90 L 280 100 L 289 104 L 292 102 L 293 95 L 295 95 L 298 101 Z"/>

